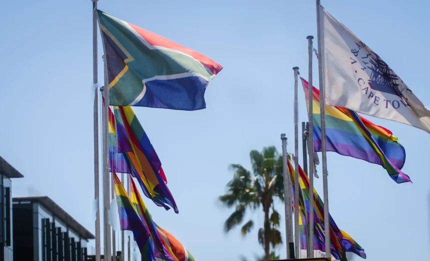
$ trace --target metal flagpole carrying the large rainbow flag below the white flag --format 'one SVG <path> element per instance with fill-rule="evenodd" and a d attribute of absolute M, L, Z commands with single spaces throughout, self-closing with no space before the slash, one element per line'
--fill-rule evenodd
<path fill-rule="evenodd" d="M 295 255 L 298 257 L 300 252 L 300 232 L 298 229 L 298 191 L 300 185 L 298 183 L 298 101 L 297 101 L 297 85 L 298 85 L 298 67 L 293 67 L 294 70 L 294 243 Z"/>

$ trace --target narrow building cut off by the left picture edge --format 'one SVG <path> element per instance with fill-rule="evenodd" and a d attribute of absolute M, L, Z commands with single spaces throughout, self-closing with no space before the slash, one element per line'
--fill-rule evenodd
<path fill-rule="evenodd" d="M 12 180 L 23 177 L 18 170 L 0 156 L 0 257 L 13 260 L 12 235 Z"/>

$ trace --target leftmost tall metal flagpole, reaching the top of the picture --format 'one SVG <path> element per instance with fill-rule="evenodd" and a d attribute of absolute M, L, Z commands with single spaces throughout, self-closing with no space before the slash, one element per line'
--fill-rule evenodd
<path fill-rule="evenodd" d="M 95 200 L 95 261 L 100 261 L 100 211 L 99 211 L 99 177 L 98 177 L 98 82 L 97 75 L 97 1 L 92 0 L 92 83 L 94 89 L 94 200 Z"/>

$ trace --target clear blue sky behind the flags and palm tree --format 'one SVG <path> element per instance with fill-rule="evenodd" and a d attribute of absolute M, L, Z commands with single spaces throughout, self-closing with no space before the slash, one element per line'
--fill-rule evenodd
<path fill-rule="evenodd" d="M 430 2 L 322 0 L 322 5 L 430 105 Z M 314 1 L 99 0 L 98 7 L 224 66 L 207 88 L 207 109 L 135 108 L 179 214 L 147 205 L 154 220 L 196 260 L 261 255 L 257 229 L 245 238 L 239 229 L 223 232 L 232 210 L 216 198 L 232 177 L 228 164 L 250 167 L 251 149 L 275 145 L 281 151 L 279 134 L 285 132 L 288 150 L 293 150 L 291 68 L 299 66 L 307 79 L 305 37 L 314 35 L 316 42 Z M 47 195 L 94 231 L 91 2 L 5 1 L 0 16 L 0 155 L 25 176 L 13 180 L 13 196 Z M 100 41 L 98 46 L 101 56 Z M 101 58 L 99 65 L 101 82 Z M 316 64 L 313 70 L 316 82 Z M 299 120 L 304 121 L 301 90 L 298 98 Z M 430 135 L 369 119 L 398 136 L 407 153 L 402 170 L 413 183 L 396 184 L 379 165 L 328 152 L 330 213 L 364 247 L 369 261 L 428 259 Z M 315 187 L 322 194 L 321 179 Z M 281 202 L 276 207 L 282 212 Z M 262 226 L 262 212 L 247 217 Z M 285 245 L 276 251 L 284 257 Z"/>

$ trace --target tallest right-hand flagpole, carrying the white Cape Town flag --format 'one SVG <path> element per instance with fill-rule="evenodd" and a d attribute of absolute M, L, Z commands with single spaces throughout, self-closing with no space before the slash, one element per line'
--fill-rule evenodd
<path fill-rule="evenodd" d="M 322 74 L 322 62 L 324 52 L 322 51 L 321 24 L 319 23 L 319 4 L 316 0 L 316 31 L 318 37 L 318 76 L 319 76 L 319 109 L 321 113 L 321 154 L 322 154 L 322 187 L 324 195 L 324 232 L 325 232 L 325 256 L 331 256 L 330 253 L 330 221 L 328 216 L 328 184 L 327 184 L 327 155 L 325 148 L 325 89 Z"/>

